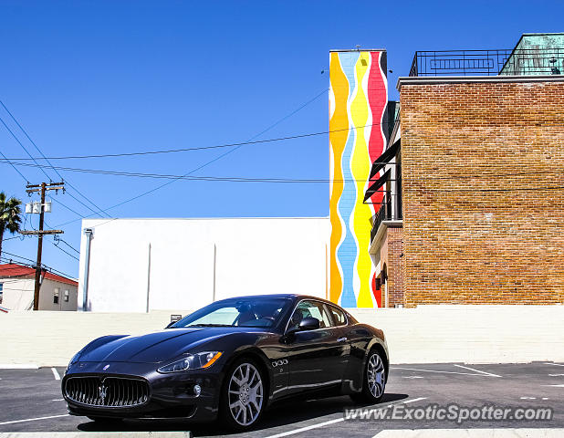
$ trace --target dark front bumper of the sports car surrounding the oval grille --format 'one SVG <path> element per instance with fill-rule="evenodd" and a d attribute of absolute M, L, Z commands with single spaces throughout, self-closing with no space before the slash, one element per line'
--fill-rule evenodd
<path fill-rule="evenodd" d="M 107 370 L 103 370 L 104 367 Z M 63 397 L 71 415 L 117 418 L 183 418 L 212 421 L 217 416 L 223 381 L 221 367 L 210 370 L 189 370 L 162 374 L 156 364 L 131 362 L 78 362 L 70 366 L 61 381 Z M 72 377 L 95 377 L 100 383 L 107 377 L 136 378 L 148 383 L 147 401 L 136 406 L 92 406 L 71 400 L 65 391 Z M 193 391 L 201 387 L 200 395 Z"/>

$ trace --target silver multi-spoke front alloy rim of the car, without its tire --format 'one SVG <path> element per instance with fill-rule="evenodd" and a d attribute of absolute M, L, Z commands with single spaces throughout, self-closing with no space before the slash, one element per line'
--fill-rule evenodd
<path fill-rule="evenodd" d="M 229 381 L 229 411 L 235 422 L 248 426 L 256 421 L 263 405 L 263 381 L 255 366 L 239 365 Z"/>

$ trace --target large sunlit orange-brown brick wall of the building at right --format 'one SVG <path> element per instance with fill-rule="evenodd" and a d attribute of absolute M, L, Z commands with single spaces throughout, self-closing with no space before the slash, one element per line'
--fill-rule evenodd
<path fill-rule="evenodd" d="M 406 305 L 563 303 L 564 81 L 401 102 Z"/>

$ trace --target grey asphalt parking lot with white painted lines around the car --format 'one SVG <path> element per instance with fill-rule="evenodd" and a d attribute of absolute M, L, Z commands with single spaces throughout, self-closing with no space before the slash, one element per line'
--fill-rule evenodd
<path fill-rule="evenodd" d="M 63 371 L 57 369 L 59 375 Z M 0 433 L 99 431 L 98 424 L 66 414 L 57 373 L 49 368 L 0 370 Z M 372 437 L 383 430 L 394 429 L 564 428 L 564 364 L 398 365 L 392 367 L 384 400 L 379 405 L 360 407 L 388 412 L 386 407 L 391 405 L 412 409 L 434 404 L 446 407 L 451 403 L 478 408 L 491 405 L 514 409 L 548 407 L 554 413 L 548 421 L 478 420 L 462 424 L 447 420 L 345 420 L 343 412 L 350 409 L 352 403 L 348 397 L 335 397 L 278 405 L 266 412 L 256 431 L 230 436 Z M 120 431 L 180 430 L 191 430 L 194 436 L 228 434 L 217 423 L 125 421 L 120 424 Z"/>

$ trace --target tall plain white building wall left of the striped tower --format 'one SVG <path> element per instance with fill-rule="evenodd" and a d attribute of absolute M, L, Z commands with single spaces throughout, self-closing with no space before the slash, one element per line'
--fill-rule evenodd
<path fill-rule="evenodd" d="M 84 220 L 89 310 L 200 308 L 225 297 L 327 294 L 329 218 Z M 85 279 L 80 245 L 78 306 Z"/>

